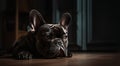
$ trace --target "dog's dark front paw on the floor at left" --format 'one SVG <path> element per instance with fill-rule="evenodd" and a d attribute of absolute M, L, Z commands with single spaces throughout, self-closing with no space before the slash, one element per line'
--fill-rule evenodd
<path fill-rule="evenodd" d="M 16 59 L 18 60 L 29 60 L 32 59 L 32 54 L 27 51 L 21 51 L 17 54 Z"/>

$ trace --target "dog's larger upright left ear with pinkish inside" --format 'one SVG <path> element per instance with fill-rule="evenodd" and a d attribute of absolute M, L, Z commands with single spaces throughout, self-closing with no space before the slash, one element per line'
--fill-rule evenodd
<path fill-rule="evenodd" d="M 27 27 L 27 31 L 35 32 L 39 29 L 39 27 L 45 24 L 45 20 L 43 19 L 42 15 L 39 11 L 33 9 L 29 13 L 29 25 Z"/>

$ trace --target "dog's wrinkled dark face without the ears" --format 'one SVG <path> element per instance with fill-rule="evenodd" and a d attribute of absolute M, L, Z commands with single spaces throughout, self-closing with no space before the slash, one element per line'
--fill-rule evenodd
<path fill-rule="evenodd" d="M 67 30 L 61 25 L 44 24 L 40 27 L 36 37 L 37 49 L 41 54 L 54 57 L 60 53 L 60 50 L 66 53 L 68 35 Z"/>

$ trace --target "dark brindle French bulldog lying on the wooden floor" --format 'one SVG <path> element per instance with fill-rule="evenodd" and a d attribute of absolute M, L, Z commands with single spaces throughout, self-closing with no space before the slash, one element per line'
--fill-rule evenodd
<path fill-rule="evenodd" d="M 70 13 L 66 12 L 58 24 L 47 24 L 39 11 L 29 12 L 27 34 L 12 46 L 16 59 L 72 57 L 68 50 Z"/>

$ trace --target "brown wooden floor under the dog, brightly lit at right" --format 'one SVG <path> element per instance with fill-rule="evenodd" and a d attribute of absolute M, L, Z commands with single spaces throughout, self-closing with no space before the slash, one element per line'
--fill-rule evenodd
<path fill-rule="evenodd" d="M 72 58 L 58 59 L 0 58 L 0 66 L 120 66 L 120 53 L 74 53 Z"/>

